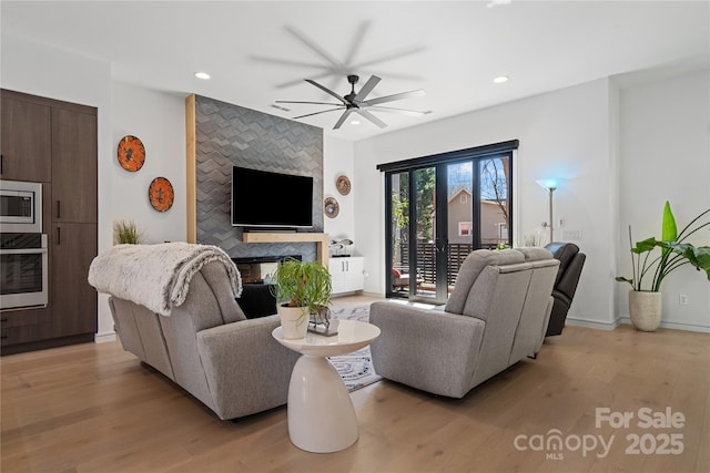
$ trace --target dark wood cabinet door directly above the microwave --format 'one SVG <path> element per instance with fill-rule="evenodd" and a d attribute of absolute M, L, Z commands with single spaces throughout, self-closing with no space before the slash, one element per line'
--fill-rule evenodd
<path fill-rule="evenodd" d="M 51 179 L 51 107 L 23 94 L 1 91 L 0 177 Z"/>

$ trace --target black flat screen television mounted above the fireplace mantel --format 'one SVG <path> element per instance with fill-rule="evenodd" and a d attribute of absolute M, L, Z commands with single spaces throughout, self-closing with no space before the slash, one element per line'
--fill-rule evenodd
<path fill-rule="evenodd" d="M 313 226 L 313 177 L 232 167 L 232 225 L 254 228 Z"/>

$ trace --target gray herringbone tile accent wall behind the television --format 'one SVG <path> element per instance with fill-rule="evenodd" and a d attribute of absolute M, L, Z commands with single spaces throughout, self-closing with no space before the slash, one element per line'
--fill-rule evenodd
<path fill-rule="evenodd" d="M 242 243 L 242 229 L 231 224 L 230 199 L 233 165 L 313 176 L 313 222 L 323 232 L 323 131 L 200 95 L 195 121 L 197 243 L 216 245 L 233 258 L 316 259 L 315 244 Z"/>

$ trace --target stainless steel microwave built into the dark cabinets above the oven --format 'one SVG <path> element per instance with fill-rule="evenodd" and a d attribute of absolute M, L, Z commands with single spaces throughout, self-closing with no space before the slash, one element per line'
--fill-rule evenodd
<path fill-rule="evenodd" d="M 0 232 L 42 233 L 42 183 L 0 181 Z"/>

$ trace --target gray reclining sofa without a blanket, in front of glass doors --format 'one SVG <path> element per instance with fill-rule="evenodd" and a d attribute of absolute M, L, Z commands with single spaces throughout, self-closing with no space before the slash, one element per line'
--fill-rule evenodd
<path fill-rule="evenodd" d="M 404 301 L 371 305 L 382 331 L 372 343 L 377 374 L 409 387 L 463 398 L 545 339 L 559 261 L 544 248 L 473 251 L 444 310 Z"/>

